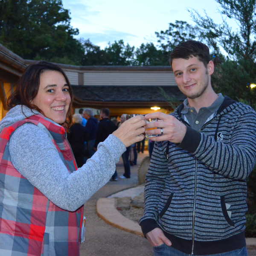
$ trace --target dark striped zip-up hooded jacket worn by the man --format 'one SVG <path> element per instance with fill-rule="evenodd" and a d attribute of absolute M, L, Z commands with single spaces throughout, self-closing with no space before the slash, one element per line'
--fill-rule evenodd
<path fill-rule="evenodd" d="M 180 145 L 155 143 L 146 175 L 144 235 L 156 227 L 187 254 L 245 246 L 247 184 L 256 161 L 256 113 L 225 96 L 199 132 L 187 125 Z"/>

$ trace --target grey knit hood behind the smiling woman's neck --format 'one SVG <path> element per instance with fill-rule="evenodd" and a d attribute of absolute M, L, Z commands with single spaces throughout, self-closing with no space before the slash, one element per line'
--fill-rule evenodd
<path fill-rule="evenodd" d="M 17 105 L 6 114 L 6 116 L 0 122 L 0 132 L 3 131 L 8 125 L 11 125 L 20 120 L 26 119 L 29 116 L 40 114 L 36 110 L 31 110 L 30 108 L 24 105 Z"/>

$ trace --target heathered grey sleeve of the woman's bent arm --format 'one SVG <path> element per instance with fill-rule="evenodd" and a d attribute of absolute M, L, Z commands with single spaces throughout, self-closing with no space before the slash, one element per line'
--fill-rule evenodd
<path fill-rule="evenodd" d="M 15 169 L 33 186 L 58 207 L 75 211 L 109 181 L 125 145 L 109 135 L 93 157 L 70 174 L 47 132 L 24 124 L 12 134 L 9 151 Z"/>

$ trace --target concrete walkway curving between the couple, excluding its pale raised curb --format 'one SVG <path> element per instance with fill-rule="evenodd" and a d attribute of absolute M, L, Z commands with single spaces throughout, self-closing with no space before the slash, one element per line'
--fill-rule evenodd
<path fill-rule="evenodd" d="M 85 241 L 81 244 L 81 256 L 153 256 L 153 250 L 148 240 L 127 231 L 112 227 L 99 218 L 96 213 L 96 203 L 99 198 L 106 198 L 121 190 L 138 186 L 137 168 L 141 160 L 148 155 L 138 154 L 138 163 L 131 166 L 131 178 L 108 182 L 85 204 L 86 216 Z M 122 159 L 116 166 L 118 175 L 124 173 Z"/>

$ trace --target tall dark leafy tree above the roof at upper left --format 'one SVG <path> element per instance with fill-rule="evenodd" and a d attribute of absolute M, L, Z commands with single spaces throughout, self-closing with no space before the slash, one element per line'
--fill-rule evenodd
<path fill-rule="evenodd" d="M 0 42 L 26 59 L 80 64 L 84 49 L 61 0 L 1 0 Z"/>

